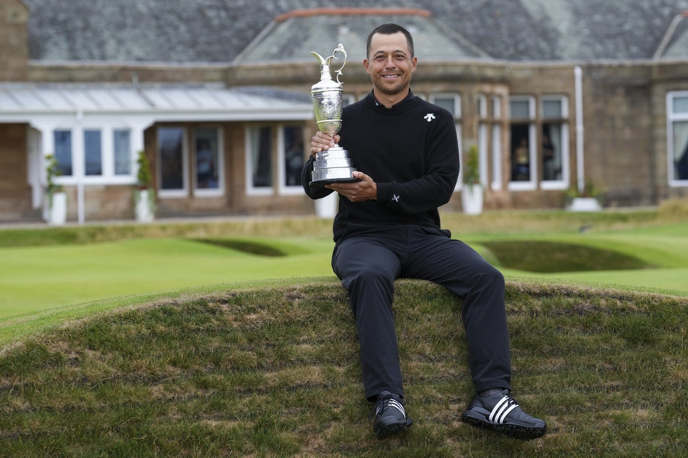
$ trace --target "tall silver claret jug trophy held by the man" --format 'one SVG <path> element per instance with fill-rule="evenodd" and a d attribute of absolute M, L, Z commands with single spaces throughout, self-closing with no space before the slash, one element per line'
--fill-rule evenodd
<path fill-rule="evenodd" d="M 336 71 L 337 80 L 334 81 L 330 75 L 330 61 L 332 58 L 338 59 L 334 56 L 338 52 L 344 55 L 344 63 Z M 344 46 L 339 43 L 330 57 L 323 58 L 316 52 L 310 54 L 315 56 L 320 64 L 320 81 L 310 89 L 310 94 L 313 97 L 315 120 L 321 132 L 334 135 L 342 127 L 342 94 L 344 90 L 339 81 L 339 76 L 342 75 L 342 69 L 346 65 L 346 51 Z M 349 152 L 336 144 L 327 151 L 315 153 L 313 171 L 310 175 L 313 181 L 310 182 L 310 185 L 357 182 L 358 179 L 352 177 L 354 171 L 356 169 L 351 166 Z"/>

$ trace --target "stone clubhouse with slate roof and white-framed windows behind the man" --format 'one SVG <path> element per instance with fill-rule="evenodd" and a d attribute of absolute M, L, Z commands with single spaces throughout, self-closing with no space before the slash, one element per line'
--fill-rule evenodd
<path fill-rule="evenodd" d="M 413 93 L 454 114 L 462 160 L 477 148 L 486 209 L 688 196 L 687 1 L 368 4 L 0 0 L 0 221 L 41 220 L 50 154 L 67 221 L 133 218 L 138 151 L 160 217 L 314 213 L 310 52 L 343 43 L 354 102 L 389 22 L 413 34 Z"/>

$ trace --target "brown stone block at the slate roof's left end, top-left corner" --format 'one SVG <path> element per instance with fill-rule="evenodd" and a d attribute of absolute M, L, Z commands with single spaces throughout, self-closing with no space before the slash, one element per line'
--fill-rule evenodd
<path fill-rule="evenodd" d="M 28 19 L 21 0 L 0 0 L 0 81 L 28 78 Z"/>

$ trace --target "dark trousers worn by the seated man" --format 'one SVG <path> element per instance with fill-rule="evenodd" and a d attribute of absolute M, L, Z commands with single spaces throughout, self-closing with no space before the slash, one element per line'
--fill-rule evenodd
<path fill-rule="evenodd" d="M 433 281 L 460 296 L 475 389 L 510 388 L 504 276 L 473 248 L 439 229 L 372 226 L 335 246 L 332 269 L 350 294 L 369 400 L 404 394 L 391 310 L 398 278 Z"/>

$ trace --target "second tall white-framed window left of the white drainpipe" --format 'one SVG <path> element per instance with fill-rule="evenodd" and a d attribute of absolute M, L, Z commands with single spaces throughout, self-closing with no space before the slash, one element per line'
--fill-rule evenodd
<path fill-rule="evenodd" d="M 535 147 L 535 98 L 514 96 L 509 99 L 510 166 L 509 189 L 534 190 L 537 177 Z"/>

